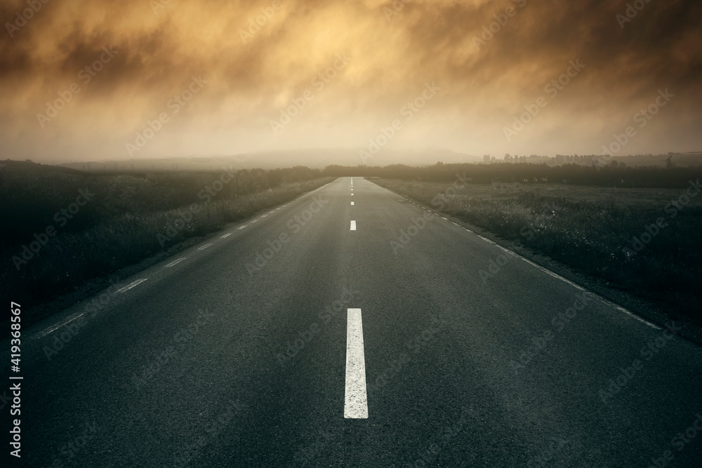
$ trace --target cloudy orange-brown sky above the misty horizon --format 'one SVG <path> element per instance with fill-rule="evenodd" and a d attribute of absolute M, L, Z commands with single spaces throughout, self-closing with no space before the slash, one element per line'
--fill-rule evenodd
<path fill-rule="evenodd" d="M 43 1 L 0 6 L 1 159 L 702 150 L 698 1 Z"/>

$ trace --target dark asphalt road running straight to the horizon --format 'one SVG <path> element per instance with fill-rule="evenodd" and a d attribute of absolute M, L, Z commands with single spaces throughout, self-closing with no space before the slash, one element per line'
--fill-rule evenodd
<path fill-rule="evenodd" d="M 702 349 L 361 178 L 22 337 L 32 467 L 702 460 Z"/>

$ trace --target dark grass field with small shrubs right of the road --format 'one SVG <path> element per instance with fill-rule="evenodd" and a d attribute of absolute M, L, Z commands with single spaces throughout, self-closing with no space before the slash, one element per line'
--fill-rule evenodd
<path fill-rule="evenodd" d="M 702 323 L 702 195 L 694 184 L 686 190 L 373 182 L 605 279 L 669 316 Z"/>

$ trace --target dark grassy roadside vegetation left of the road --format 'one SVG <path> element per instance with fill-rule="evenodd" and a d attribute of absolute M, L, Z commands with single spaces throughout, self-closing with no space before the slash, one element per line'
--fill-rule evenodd
<path fill-rule="evenodd" d="M 125 175 L 4 163 L 0 283 L 27 308 L 333 180 L 301 166 Z"/>

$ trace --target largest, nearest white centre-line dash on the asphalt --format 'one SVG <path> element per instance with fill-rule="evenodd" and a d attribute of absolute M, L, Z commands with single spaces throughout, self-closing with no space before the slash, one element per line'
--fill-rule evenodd
<path fill-rule="evenodd" d="M 368 419 L 366 359 L 363 352 L 361 309 L 347 309 L 344 417 Z"/>

